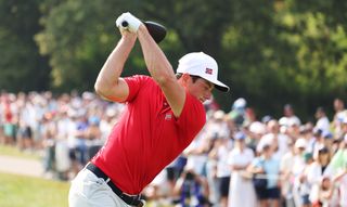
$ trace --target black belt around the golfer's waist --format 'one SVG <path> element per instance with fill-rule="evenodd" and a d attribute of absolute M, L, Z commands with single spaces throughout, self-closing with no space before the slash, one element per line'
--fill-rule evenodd
<path fill-rule="evenodd" d="M 90 171 L 92 171 L 98 178 L 102 178 L 106 181 L 108 186 L 112 189 L 112 191 L 118 195 L 125 203 L 127 203 L 130 206 L 137 206 L 137 207 L 142 207 L 143 202 L 140 199 L 140 195 L 131 196 L 127 195 L 121 192 L 120 189 L 118 189 L 111 180 L 110 178 L 100 169 L 98 168 L 94 164 L 89 163 L 86 167 Z"/>

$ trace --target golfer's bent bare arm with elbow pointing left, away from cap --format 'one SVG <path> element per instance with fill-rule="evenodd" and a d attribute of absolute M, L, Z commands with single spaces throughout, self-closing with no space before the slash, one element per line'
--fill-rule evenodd
<path fill-rule="evenodd" d="M 104 99 L 124 102 L 128 98 L 129 88 L 120 78 L 126 60 L 136 42 L 136 35 L 125 34 L 112 51 L 97 78 L 94 89 Z"/>

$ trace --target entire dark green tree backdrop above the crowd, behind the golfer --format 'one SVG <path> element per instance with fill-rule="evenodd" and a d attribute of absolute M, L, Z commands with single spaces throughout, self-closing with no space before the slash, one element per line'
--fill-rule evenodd
<path fill-rule="evenodd" d="M 308 116 L 347 98 L 345 1 L 34 2 L 0 0 L 1 88 L 92 90 L 119 39 L 114 22 L 130 11 L 168 28 L 160 48 L 174 68 L 188 52 L 217 60 L 220 79 L 231 86 L 231 93 L 215 93 L 224 109 L 243 96 L 260 115 L 280 115 L 292 103 Z M 137 44 L 124 75 L 147 74 L 144 67 Z"/>

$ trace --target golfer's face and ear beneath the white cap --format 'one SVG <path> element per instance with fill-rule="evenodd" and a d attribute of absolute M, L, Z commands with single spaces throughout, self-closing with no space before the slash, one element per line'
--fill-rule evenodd
<path fill-rule="evenodd" d="M 198 78 L 195 82 L 191 80 L 189 91 L 192 95 L 204 103 L 206 100 L 210 99 L 214 87 L 215 86 L 211 82 L 203 78 Z"/>

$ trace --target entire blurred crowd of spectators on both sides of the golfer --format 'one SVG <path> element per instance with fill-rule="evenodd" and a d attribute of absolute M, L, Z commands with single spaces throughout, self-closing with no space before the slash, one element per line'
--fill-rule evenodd
<path fill-rule="evenodd" d="M 230 112 L 207 103 L 207 122 L 192 144 L 144 190 L 156 206 L 347 206 L 347 109 L 332 103 L 301 122 L 258 118 L 237 99 Z M 0 144 L 40 153 L 46 176 L 70 180 L 102 147 L 124 105 L 92 92 L 0 95 Z M 264 186 L 255 183 L 264 183 Z M 265 181 L 265 182 L 264 182 Z"/>

